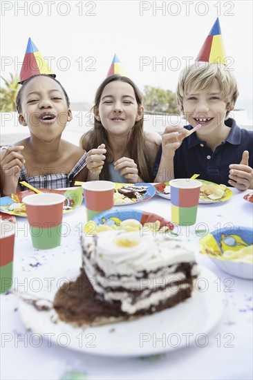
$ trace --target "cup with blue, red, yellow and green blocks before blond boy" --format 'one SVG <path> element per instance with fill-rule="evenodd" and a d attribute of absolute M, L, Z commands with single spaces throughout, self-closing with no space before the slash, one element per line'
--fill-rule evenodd
<path fill-rule="evenodd" d="M 169 181 L 171 187 L 171 222 L 187 226 L 196 223 L 202 182 L 180 178 Z"/>

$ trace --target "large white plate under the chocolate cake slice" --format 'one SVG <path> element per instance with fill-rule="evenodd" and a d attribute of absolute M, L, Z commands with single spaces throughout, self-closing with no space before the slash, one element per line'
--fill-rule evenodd
<path fill-rule="evenodd" d="M 68 266 L 71 267 L 70 256 L 68 260 L 70 260 Z M 59 278 L 59 281 L 62 278 L 69 278 L 68 274 L 62 272 L 63 268 L 64 265 L 56 267 L 53 274 L 53 277 Z M 32 330 L 35 334 L 40 334 L 40 336 L 46 336 L 50 333 L 50 339 L 55 343 L 58 350 L 59 346 L 62 345 L 64 350 L 77 350 L 80 353 L 105 357 L 144 357 L 166 352 L 173 354 L 175 350 L 180 348 L 188 352 L 189 345 L 192 345 L 193 349 L 194 345 L 196 347 L 196 336 L 205 335 L 212 331 L 224 312 L 225 292 L 223 288 L 217 292 L 216 274 L 205 267 L 200 267 L 199 276 L 200 279 L 205 278 L 209 284 L 205 292 L 198 291 L 199 289 L 196 288 L 194 295 L 184 302 L 162 310 L 162 312 L 142 316 L 133 321 L 97 327 L 75 327 L 71 323 L 59 320 L 55 309 L 39 311 L 22 298 L 19 300 L 19 313 L 27 329 Z M 30 290 L 29 293 L 35 298 L 53 301 L 56 291 L 57 289 L 51 287 L 50 290 L 39 289 L 39 292 L 36 293 Z M 160 339 L 165 333 L 167 337 L 165 345 L 154 344 L 153 339 L 146 341 L 143 339 L 143 344 L 140 344 L 141 336 L 144 337 L 148 334 Z M 176 341 L 178 344 L 171 340 L 170 344 L 168 337 L 174 336 L 175 333 L 182 339 Z M 188 334 L 187 337 L 186 334 Z M 64 343 L 59 341 L 58 338 L 61 335 L 68 337 L 68 345 L 64 345 L 66 341 Z M 80 337 L 83 339 L 82 344 L 80 344 Z"/>

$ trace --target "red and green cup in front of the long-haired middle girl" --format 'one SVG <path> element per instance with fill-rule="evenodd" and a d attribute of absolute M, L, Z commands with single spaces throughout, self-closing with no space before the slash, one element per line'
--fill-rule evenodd
<path fill-rule="evenodd" d="M 82 184 L 87 221 L 102 211 L 113 207 L 115 183 L 110 181 L 90 181 Z"/>

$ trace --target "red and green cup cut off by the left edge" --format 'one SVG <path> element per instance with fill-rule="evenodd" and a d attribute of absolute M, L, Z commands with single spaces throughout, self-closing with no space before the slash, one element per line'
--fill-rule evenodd
<path fill-rule="evenodd" d="M 15 224 L 0 220 L 0 293 L 12 287 Z"/>

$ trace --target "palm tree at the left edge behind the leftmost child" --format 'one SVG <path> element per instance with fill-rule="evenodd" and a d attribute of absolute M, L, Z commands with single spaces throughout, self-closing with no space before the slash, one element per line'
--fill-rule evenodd
<path fill-rule="evenodd" d="M 19 92 L 20 84 L 17 83 L 19 75 L 10 73 L 10 80 L 3 77 L 6 87 L 0 87 L 0 112 L 16 111 L 16 98 Z"/>

